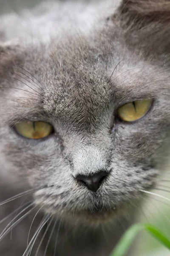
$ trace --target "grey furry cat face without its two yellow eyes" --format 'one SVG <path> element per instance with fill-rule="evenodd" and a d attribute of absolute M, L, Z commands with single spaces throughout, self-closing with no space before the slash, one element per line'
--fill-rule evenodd
<path fill-rule="evenodd" d="M 132 52 L 113 21 L 93 36 L 1 52 L 3 175 L 34 188 L 46 212 L 91 223 L 117 217 L 155 186 L 169 151 L 164 62 L 143 45 Z M 119 118 L 121 106 L 145 99 L 144 116 Z M 22 136 L 16 123 L 28 121 L 50 124 L 50 135 Z"/>

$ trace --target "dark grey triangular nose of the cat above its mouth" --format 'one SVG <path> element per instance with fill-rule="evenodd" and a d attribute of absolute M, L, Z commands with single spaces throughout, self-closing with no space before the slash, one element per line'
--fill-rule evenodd
<path fill-rule="evenodd" d="M 100 171 L 91 176 L 77 175 L 76 179 L 81 180 L 93 192 L 96 192 L 101 185 L 102 180 L 108 175 L 108 172 Z"/>

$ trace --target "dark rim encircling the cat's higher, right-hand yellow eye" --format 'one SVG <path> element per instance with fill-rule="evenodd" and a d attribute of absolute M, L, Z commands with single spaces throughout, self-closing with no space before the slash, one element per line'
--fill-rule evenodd
<path fill-rule="evenodd" d="M 142 100 L 149 100 L 149 98 L 148 98 L 148 99 L 147 99 L 147 98 L 145 98 L 145 99 L 135 99 L 135 100 L 133 100 L 133 101 L 131 101 L 131 102 L 140 101 L 140 100 L 141 100 L 141 101 L 142 101 Z M 147 112 L 146 112 L 143 116 L 141 116 L 141 117 L 139 117 L 138 119 L 133 120 L 133 121 L 124 121 L 124 120 L 122 120 L 122 119 L 120 118 L 120 116 L 119 116 L 119 114 L 118 114 L 119 108 L 121 108 L 122 106 L 124 106 L 124 105 L 126 105 L 127 103 L 130 103 L 130 102 L 126 102 L 125 104 L 120 105 L 119 108 L 117 108 L 117 110 L 116 110 L 115 122 L 116 122 L 116 123 L 125 123 L 125 124 L 127 124 L 127 125 L 131 125 L 131 124 L 134 124 L 134 123 L 136 123 L 136 122 L 139 122 L 139 120 L 145 118 L 145 117 L 147 116 L 147 114 L 152 110 L 153 105 L 154 105 L 154 102 L 155 102 L 155 99 L 150 99 L 150 100 L 151 100 L 151 102 L 150 102 L 150 107 L 149 107 L 149 109 L 147 110 Z"/>

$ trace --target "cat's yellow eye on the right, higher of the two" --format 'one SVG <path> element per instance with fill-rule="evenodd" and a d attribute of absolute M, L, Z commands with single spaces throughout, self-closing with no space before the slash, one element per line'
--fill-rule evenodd
<path fill-rule="evenodd" d="M 135 121 L 149 111 L 151 104 L 151 99 L 128 102 L 118 109 L 118 116 L 122 121 L 125 122 Z"/>

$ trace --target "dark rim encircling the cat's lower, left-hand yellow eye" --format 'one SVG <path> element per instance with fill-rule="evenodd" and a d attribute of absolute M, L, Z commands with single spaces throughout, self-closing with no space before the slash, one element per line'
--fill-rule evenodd
<path fill-rule="evenodd" d="M 40 141 L 43 141 L 43 140 L 47 140 L 48 138 L 53 137 L 53 136 L 56 134 L 55 129 L 54 129 L 54 126 L 51 125 L 51 128 L 52 128 L 52 129 L 51 129 L 51 133 L 48 134 L 48 135 L 45 136 L 45 137 L 42 137 L 42 138 L 39 138 L 39 139 L 33 139 L 33 138 L 25 137 L 25 136 L 23 136 L 22 134 L 20 134 L 20 133 L 17 131 L 15 125 L 16 125 L 17 123 L 20 123 L 20 122 L 28 122 L 28 121 L 29 121 L 29 122 L 43 122 L 43 123 L 47 123 L 48 125 L 51 125 L 51 123 L 49 123 L 49 122 L 44 122 L 44 121 L 40 121 L 40 120 L 36 120 L 36 121 L 35 121 L 35 120 L 23 119 L 23 120 L 20 120 L 20 121 L 18 121 L 18 122 L 15 122 L 14 125 L 11 125 L 11 129 L 13 129 L 14 132 L 15 132 L 19 137 L 23 138 L 24 140 L 29 140 L 29 141 L 34 141 L 34 142 L 36 142 L 36 141 L 40 142 Z"/>

